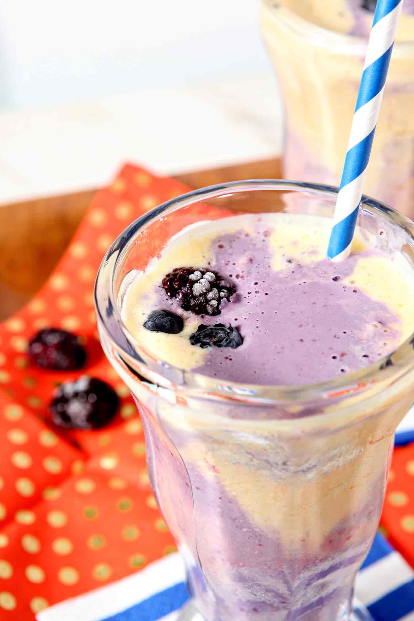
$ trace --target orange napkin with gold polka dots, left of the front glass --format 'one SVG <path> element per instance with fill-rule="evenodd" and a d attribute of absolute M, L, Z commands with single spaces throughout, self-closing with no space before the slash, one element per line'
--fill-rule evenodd
<path fill-rule="evenodd" d="M 34 619 L 175 550 L 151 494 L 137 409 L 99 344 L 92 289 L 125 226 L 186 191 L 174 179 L 125 166 L 97 193 L 48 283 L 0 325 L 1 620 Z M 30 363 L 28 340 L 48 326 L 82 336 L 88 361 L 81 371 Z M 117 417 L 97 431 L 53 426 L 53 389 L 84 373 L 114 386 Z"/>

